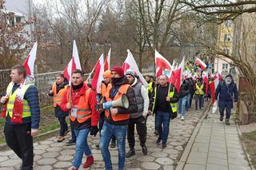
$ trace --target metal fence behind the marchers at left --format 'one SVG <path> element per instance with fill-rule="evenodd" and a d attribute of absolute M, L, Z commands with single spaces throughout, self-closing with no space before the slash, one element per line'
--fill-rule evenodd
<path fill-rule="evenodd" d="M 57 72 L 50 72 L 50 73 L 38 73 L 34 75 L 35 78 L 35 85 L 38 88 L 38 96 L 39 96 L 39 104 L 40 107 L 45 107 L 48 105 L 52 105 L 53 99 L 52 97 L 48 96 L 51 86 L 54 84 L 55 77 L 58 73 Z M 86 73 L 85 76 L 89 74 Z M 4 95 L 6 93 L 6 87 L 10 83 L 10 69 L 3 69 L 0 70 L 0 95 Z"/>

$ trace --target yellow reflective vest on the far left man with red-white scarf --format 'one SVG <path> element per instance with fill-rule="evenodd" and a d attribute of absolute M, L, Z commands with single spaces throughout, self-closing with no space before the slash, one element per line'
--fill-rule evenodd
<path fill-rule="evenodd" d="M 24 96 L 24 94 L 26 93 L 26 90 L 29 89 L 30 85 L 33 85 L 33 84 L 27 84 L 27 85 L 23 86 L 22 89 L 20 89 L 21 90 L 20 93 L 22 96 Z M 8 87 L 6 89 L 6 93 L 10 94 L 9 101 L 7 103 L 6 113 L 9 114 L 10 117 L 13 117 L 14 101 L 15 101 L 16 95 L 18 94 L 18 89 L 16 89 L 14 91 L 14 93 L 12 93 L 13 86 L 14 86 L 14 83 L 10 82 L 10 84 L 8 85 Z M 23 106 L 22 107 L 22 118 L 31 117 L 30 105 L 28 104 L 28 101 L 23 99 L 22 106 Z"/>

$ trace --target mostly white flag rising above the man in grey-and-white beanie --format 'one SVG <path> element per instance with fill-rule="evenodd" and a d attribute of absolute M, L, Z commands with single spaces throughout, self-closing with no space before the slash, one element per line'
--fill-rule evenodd
<path fill-rule="evenodd" d="M 134 56 L 132 53 L 130 53 L 130 49 L 127 49 L 127 57 L 126 57 L 126 61 L 124 61 L 124 63 L 122 64 L 122 68 L 124 69 L 124 72 L 126 73 L 127 69 L 134 69 L 135 73 L 138 75 L 140 81 L 142 82 L 142 84 L 147 87 L 148 84 L 145 80 L 145 78 L 142 76 L 142 73 L 140 73 L 139 69 L 138 69 L 138 65 L 136 63 L 136 61 L 134 60 Z"/>

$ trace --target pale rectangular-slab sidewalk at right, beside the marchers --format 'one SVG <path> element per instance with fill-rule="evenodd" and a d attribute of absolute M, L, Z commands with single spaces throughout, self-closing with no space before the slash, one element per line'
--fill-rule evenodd
<path fill-rule="evenodd" d="M 180 168 L 180 166 L 179 166 Z M 249 170 L 251 169 L 234 121 L 225 125 L 218 113 L 202 121 L 186 159 L 184 170 Z"/>

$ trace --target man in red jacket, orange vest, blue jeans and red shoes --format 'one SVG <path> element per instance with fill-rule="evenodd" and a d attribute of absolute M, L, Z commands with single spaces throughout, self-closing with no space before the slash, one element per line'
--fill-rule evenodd
<path fill-rule="evenodd" d="M 72 90 L 66 90 L 62 99 L 61 109 L 69 111 L 71 124 L 77 137 L 72 170 L 78 170 L 82 163 L 83 154 L 86 155 L 86 162 L 83 168 L 89 168 L 94 164 L 94 156 L 87 143 L 87 136 L 96 136 L 98 132 L 98 112 L 95 109 L 96 93 L 83 82 L 83 73 L 75 69 L 71 75 Z"/>

